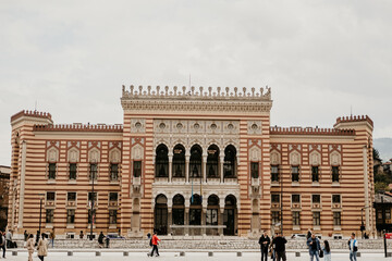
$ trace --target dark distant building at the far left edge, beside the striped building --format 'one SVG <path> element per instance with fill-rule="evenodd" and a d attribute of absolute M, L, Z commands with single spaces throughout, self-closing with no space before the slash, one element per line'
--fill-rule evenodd
<path fill-rule="evenodd" d="M 0 231 L 7 227 L 10 191 L 10 166 L 0 165 Z"/>

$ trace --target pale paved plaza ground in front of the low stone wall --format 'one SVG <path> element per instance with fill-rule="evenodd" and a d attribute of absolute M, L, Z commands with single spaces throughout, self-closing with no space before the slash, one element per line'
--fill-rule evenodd
<path fill-rule="evenodd" d="M 302 252 L 302 257 L 296 258 L 294 252 L 287 253 L 287 260 L 295 261 L 308 261 L 309 256 L 307 252 Z M 12 256 L 11 252 L 8 253 L 7 260 L 14 261 L 26 261 L 27 252 L 19 252 L 17 256 Z M 33 260 L 39 260 L 34 254 Z M 125 261 L 125 260 L 164 260 L 164 261 L 252 261 L 260 260 L 260 254 L 257 252 L 243 252 L 242 257 L 236 257 L 236 252 L 213 252 L 213 257 L 208 257 L 208 252 L 186 252 L 185 257 L 180 257 L 180 252 L 161 252 L 160 257 L 148 258 L 146 252 L 130 252 L 128 257 L 123 257 L 122 252 L 102 252 L 100 257 L 96 257 L 95 252 L 74 252 L 74 256 L 68 257 L 66 252 L 49 252 L 49 256 L 45 260 L 51 261 Z M 270 261 L 271 259 L 269 259 Z M 321 259 L 323 260 L 323 259 Z M 332 253 L 333 261 L 343 261 L 348 260 L 348 253 L 336 252 Z M 366 261 L 377 261 L 377 260 L 392 260 L 392 258 L 384 258 L 381 251 L 378 252 L 364 252 L 359 260 Z"/>

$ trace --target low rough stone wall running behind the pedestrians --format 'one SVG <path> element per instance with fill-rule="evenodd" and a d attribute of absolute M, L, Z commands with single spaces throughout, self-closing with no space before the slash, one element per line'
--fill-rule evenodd
<path fill-rule="evenodd" d="M 321 240 L 322 243 L 323 240 Z M 16 240 L 17 246 L 23 248 L 23 240 Z M 347 249 L 346 239 L 329 239 L 331 249 Z M 359 249 L 383 249 L 383 239 L 358 239 Z M 50 246 L 51 247 L 51 246 Z M 258 240 L 250 239 L 197 239 L 197 238 L 162 238 L 160 248 L 162 249 L 259 249 Z M 59 249 L 88 249 L 98 248 L 97 240 L 88 239 L 56 239 L 54 248 Z M 144 249 L 149 248 L 147 239 L 112 239 L 110 248 L 123 249 Z M 392 240 L 388 241 L 388 248 L 392 249 Z M 286 249 L 307 249 L 306 241 L 303 239 L 289 239 Z"/>

